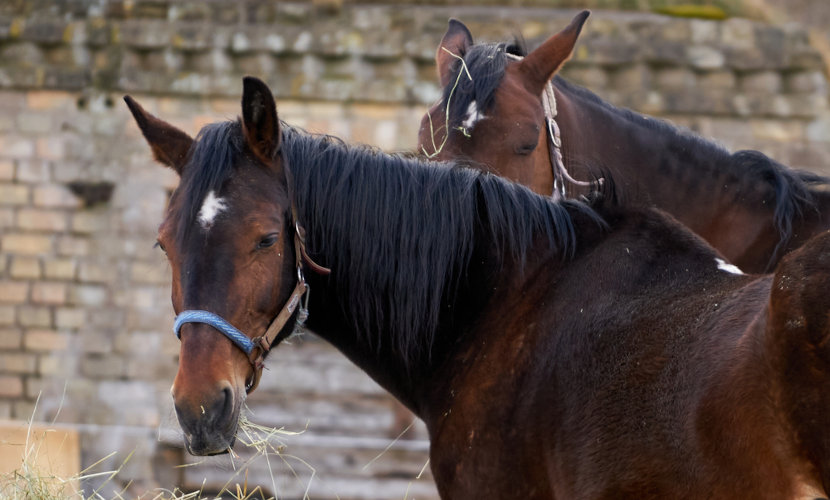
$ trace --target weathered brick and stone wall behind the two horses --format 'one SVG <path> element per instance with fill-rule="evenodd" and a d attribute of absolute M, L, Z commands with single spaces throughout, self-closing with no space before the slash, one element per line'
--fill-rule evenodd
<path fill-rule="evenodd" d="M 199 488 L 205 478 L 219 488 L 233 475 L 230 458 L 202 463 L 178 446 L 168 394 L 179 347 L 170 277 L 152 248 L 176 177 L 152 162 L 123 94 L 195 133 L 236 116 L 241 76 L 254 74 L 272 86 L 290 123 L 411 149 L 438 96 L 432 58 L 448 17 L 477 38 L 521 33 L 534 47 L 573 14 L 255 0 L 3 2 L 0 418 L 34 414 L 78 428 L 85 464 L 118 451 L 105 464 L 116 467 L 135 450 L 116 480 L 133 480 L 131 493 Z M 824 71 L 797 26 L 599 11 L 563 73 L 730 148 L 830 173 Z M 345 358 L 306 336 L 281 346 L 269 368 L 249 402 L 253 419 L 307 428 L 284 440 L 288 454 L 314 468 L 311 496 L 435 496 L 428 475 L 415 480 L 427 459 L 423 428 L 381 453 L 397 432 L 394 404 Z M 272 458 L 277 492 L 302 497 L 311 469 L 286 460 L 300 478 Z M 200 465 L 171 467 L 182 462 Z M 254 461 L 249 484 L 272 490 L 268 469 Z"/>

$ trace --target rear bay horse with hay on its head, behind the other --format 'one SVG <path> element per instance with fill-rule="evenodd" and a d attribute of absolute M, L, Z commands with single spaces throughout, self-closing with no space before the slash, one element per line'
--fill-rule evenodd
<path fill-rule="evenodd" d="M 590 166 L 601 167 L 619 195 L 667 211 L 747 272 L 774 268 L 830 228 L 829 179 L 758 151 L 730 153 L 556 76 L 588 15 L 530 53 L 518 42 L 474 44 L 450 20 L 435 58 L 443 97 L 421 121 L 419 150 L 547 195 L 584 194 L 602 177 Z"/>

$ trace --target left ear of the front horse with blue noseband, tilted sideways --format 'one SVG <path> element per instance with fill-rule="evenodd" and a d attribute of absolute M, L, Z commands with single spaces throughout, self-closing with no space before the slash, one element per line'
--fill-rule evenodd
<path fill-rule="evenodd" d="M 124 102 L 130 108 L 138 128 L 150 144 L 156 161 L 167 165 L 182 175 L 182 168 L 187 162 L 187 154 L 193 139 L 169 123 L 151 115 L 132 97 L 125 95 Z"/>

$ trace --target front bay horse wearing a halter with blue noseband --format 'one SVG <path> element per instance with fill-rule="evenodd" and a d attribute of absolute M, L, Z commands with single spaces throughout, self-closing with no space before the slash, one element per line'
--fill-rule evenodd
<path fill-rule="evenodd" d="M 241 118 L 196 139 L 125 99 L 180 175 L 158 243 L 191 453 L 234 444 L 262 358 L 307 312 L 426 423 L 445 499 L 830 486 L 830 234 L 745 275 L 659 210 L 291 128 L 256 78 Z"/>

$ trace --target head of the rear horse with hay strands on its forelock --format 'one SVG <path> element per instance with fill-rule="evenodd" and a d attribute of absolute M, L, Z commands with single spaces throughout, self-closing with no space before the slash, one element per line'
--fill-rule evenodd
<path fill-rule="evenodd" d="M 539 48 L 473 45 L 452 19 L 435 55 L 443 98 L 421 120 L 418 149 L 441 160 L 469 158 L 493 173 L 550 195 L 554 185 L 543 94 L 571 57 L 589 12 Z M 552 92 L 552 89 L 550 90 Z"/>

